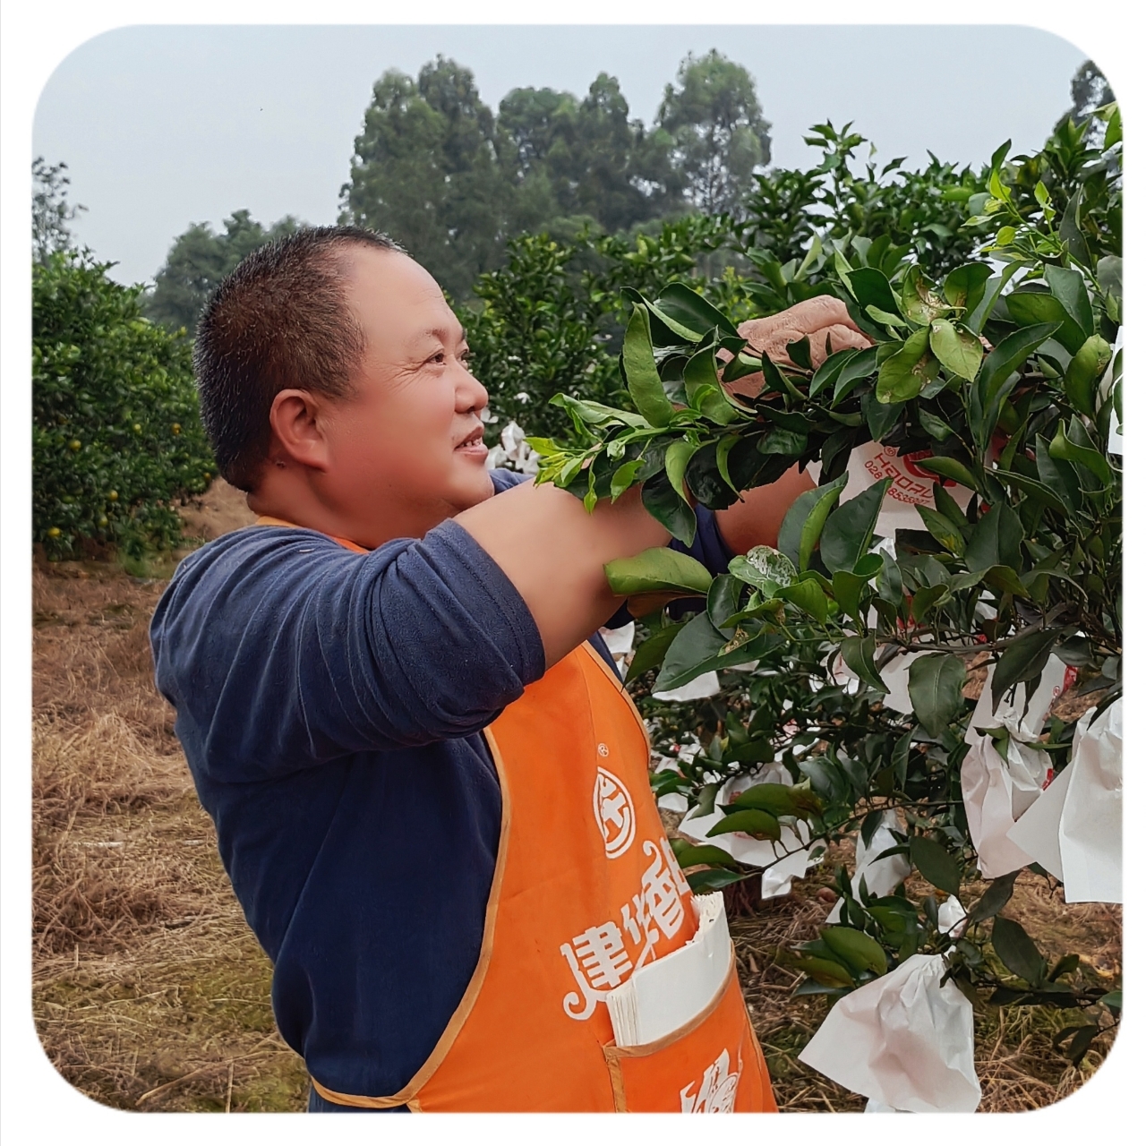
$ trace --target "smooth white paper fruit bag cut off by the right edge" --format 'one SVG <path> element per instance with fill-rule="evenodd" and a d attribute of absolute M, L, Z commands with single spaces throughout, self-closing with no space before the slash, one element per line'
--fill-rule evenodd
<path fill-rule="evenodd" d="M 1122 902 L 1122 698 L 1075 725 L 1070 763 L 1007 833 L 1067 903 Z"/>

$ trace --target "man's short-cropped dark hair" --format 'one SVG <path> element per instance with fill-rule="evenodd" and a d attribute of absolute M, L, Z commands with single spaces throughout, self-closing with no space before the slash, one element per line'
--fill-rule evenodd
<path fill-rule="evenodd" d="M 339 259 L 352 246 L 405 253 L 362 227 L 307 227 L 249 254 L 203 312 L 195 337 L 199 411 L 219 472 L 240 489 L 259 484 L 278 391 L 351 392 L 366 351 Z"/>

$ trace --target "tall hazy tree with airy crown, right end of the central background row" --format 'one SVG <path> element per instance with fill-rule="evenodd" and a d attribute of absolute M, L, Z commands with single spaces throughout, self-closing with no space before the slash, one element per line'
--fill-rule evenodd
<path fill-rule="evenodd" d="M 736 213 L 753 172 L 771 158 L 771 124 L 763 118 L 751 72 L 715 48 L 681 63 L 657 113 L 670 147 L 676 189 L 706 214 Z M 659 134 L 658 133 L 658 134 Z"/>

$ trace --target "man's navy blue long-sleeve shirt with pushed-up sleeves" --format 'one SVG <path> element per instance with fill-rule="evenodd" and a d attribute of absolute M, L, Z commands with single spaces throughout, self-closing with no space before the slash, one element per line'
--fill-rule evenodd
<path fill-rule="evenodd" d="M 698 516 L 690 551 L 722 571 Z M 453 521 L 367 555 L 253 526 L 180 564 L 151 644 L 283 1037 L 333 1090 L 399 1091 L 477 965 L 501 824 L 481 730 L 544 672 L 525 603 Z"/>

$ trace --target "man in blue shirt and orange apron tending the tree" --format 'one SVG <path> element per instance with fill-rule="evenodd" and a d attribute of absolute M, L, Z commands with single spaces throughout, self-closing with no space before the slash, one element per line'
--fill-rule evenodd
<path fill-rule="evenodd" d="M 822 356 L 829 331 L 862 345 L 834 300 L 749 337 Z M 433 278 L 352 228 L 251 256 L 197 337 L 260 519 L 176 571 L 156 676 L 309 1108 L 774 1109 L 732 971 L 674 1036 L 615 1045 L 609 991 L 698 924 L 587 641 L 623 604 L 603 566 L 669 536 L 636 489 L 589 515 L 490 474 L 466 355 Z M 701 508 L 692 551 L 775 541 L 808 485 Z"/>

